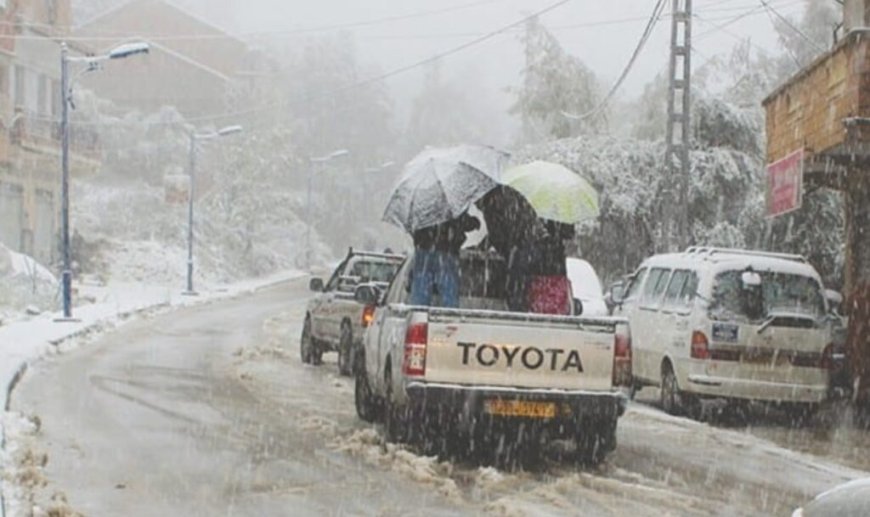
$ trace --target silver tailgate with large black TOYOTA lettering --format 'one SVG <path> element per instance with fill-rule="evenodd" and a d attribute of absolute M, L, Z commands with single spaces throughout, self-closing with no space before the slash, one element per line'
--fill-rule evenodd
<path fill-rule="evenodd" d="M 432 310 L 426 381 L 610 390 L 617 320 Z"/>

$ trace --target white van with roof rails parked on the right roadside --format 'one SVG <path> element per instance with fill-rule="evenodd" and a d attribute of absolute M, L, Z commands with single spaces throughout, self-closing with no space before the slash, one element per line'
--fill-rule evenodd
<path fill-rule="evenodd" d="M 803 257 L 689 248 L 630 277 L 635 389 L 661 386 L 669 413 L 701 398 L 773 402 L 805 412 L 828 394 L 832 347 L 819 274 Z"/>

